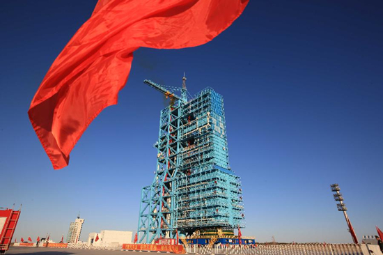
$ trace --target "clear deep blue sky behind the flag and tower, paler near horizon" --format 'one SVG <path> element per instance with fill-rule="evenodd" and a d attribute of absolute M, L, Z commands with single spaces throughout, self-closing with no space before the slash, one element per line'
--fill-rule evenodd
<path fill-rule="evenodd" d="M 255 1 L 189 49 L 141 48 L 118 105 L 102 111 L 54 171 L 27 110 L 95 0 L 0 1 L 0 206 L 23 204 L 15 238 L 81 240 L 136 231 L 153 180 L 162 95 L 143 84 L 224 95 L 230 165 L 260 242 L 352 242 L 329 190 L 339 183 L 359 238 L 383 229 L 383 2 Z"/>

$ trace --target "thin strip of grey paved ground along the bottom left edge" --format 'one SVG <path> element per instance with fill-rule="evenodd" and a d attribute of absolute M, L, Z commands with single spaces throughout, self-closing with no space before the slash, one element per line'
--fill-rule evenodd
<path fill-rule="evenodd" d="M 151 252 L 152 254 L 154 252 Z M 32 255 L 141 255 L 148 252 L 122 252 L 122 251 L 107 251 L 97 249 L 68 249 L 68 248 L 43 248 L 43 247 L 13 247 L 11 246 L 6 254 L 32 254 Z M 154 254 L 153 254 L 154 255 Z"/>

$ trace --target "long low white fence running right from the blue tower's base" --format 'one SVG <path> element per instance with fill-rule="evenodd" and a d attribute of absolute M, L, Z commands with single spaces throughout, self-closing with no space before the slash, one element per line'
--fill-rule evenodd
<path fill-rule="evenodd" d="M 257 247 L 213 245 L 212 247 L 186 247 L 189 254 L 242 254 L 242 255 L 363 255 L 360 245 L 257 245 Z M 367 254 L 368 255 L 368 254 Z"/>

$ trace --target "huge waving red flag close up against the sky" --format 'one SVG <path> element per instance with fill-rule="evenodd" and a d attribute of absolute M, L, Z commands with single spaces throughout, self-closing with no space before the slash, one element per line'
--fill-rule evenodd
<path fill-rule="evenodd" d="M 209 42 L 249 0 L 99 0 L 49 68 L 28 114 L 54 169 L 66 167 L 81 134 L 102 109 L 116 105 L 133 52 Z"/>

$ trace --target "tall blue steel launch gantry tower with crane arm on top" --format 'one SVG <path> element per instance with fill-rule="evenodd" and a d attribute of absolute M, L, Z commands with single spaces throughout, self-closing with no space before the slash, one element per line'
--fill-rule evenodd
<path fill-rule="evenodd" d="M 230 169 L 224 98 L 205 88 L 187 98 L 186 78 L 181 96 L 149 80 L 145 84 L 173 100 L 161 111 L 157 170 L 153 183 L 143 187 L 139 211 L 139 243 L 155 238 L 235 238 L 244 227 L 240 178 Z M 177 241 L 178 242 L 178 241 Z"/>

